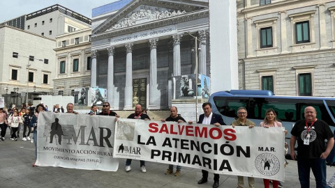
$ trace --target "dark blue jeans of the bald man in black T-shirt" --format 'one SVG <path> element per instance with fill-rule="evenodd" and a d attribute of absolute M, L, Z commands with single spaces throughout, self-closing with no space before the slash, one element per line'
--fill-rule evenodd
<path fill-rule="evenodd" d="M 316 188 L 327 188 L 326 159 L 304 159 L 298 156 L 297 161 L 301 188 L 309 188 L 311 169 L 315 177 Z"/>

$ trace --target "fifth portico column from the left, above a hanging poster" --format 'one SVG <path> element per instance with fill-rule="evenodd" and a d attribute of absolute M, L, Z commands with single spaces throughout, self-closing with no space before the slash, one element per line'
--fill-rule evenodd
<path fill-rule="evenodd" d="M 173 76 L 181 75 L 181 61 L 180 61 L 180 39 L 182 34 L 172 36 L 173 38 Z"/>

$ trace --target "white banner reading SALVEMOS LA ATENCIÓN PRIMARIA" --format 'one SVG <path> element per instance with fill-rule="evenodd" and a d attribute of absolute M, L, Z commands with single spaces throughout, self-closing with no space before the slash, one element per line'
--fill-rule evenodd
<path fill-rule="evenodd" d="M 213 173 L 284 180 L 281 127 L 235 127 L 121 119 L 114 157 L 204 169 Z"/>

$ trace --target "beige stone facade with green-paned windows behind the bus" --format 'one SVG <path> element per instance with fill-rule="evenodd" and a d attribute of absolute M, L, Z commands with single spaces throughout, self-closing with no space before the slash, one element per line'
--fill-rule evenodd
<path fill-rule="evenodd" d="M 237 1 L 239 88 L 334 96 L 335 1 Z"/>

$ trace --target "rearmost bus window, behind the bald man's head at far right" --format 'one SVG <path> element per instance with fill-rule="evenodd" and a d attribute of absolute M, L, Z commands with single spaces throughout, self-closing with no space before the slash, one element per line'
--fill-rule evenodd
<path fill-rule="evenodd" d="M 313 103 L 312 103 L 313 102 Z M 323 100 L 311 100 L 308 101 L 308 103 L 303 103 L 300 106 L 301 109 L 301 119 L 305 118 L 304 117 L 304 111 L 306 107 L 314 107 L 315 111 L 316 111 L 316 118 L 318 118 L 319 120 L 324 120 L 328 125 L 332 125 L 334 126 L 334 122 L 332 120 L 332 118 L 330 118 L 329 113 L 325 107 L 325 104 L 323 104 Z"/>

